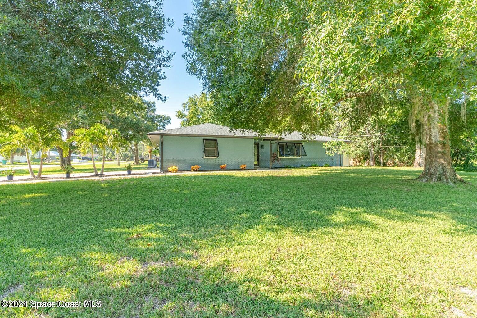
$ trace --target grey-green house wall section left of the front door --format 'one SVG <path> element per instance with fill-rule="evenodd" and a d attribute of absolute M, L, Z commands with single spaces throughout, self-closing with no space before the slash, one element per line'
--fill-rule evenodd
<path fill-rule="evenodd" d="M 163 170 L 176 165 L 181 171 L 188 171 L 192 165 L 200 165 L 199 170 L 219 170 L 220 164 L 227 169 L 239 169 L 247 164 L 253 169 L 253 138 L 209 138 L 188 136 L 167 136 L 163 140 Z M 204 139 L 217 139 L 218 158 L 204 158 Z"/>

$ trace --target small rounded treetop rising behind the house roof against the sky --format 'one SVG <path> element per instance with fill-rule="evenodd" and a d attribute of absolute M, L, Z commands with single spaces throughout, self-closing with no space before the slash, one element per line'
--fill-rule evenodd
<path fill-rule="evenodd" d="M 205 93 L 189 96 L 182 110 L 176 112 L 176 117 L 181 120 L 181 127 L 198 125 L 201 123 L 218 123 L 214 118 L 213 103 Z"/>

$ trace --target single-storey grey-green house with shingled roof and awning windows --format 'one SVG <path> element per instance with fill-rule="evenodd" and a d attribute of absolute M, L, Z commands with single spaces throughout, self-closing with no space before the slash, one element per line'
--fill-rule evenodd
<path fill-rule="evenodd" d="M 218 170 L 220 164 L 227 164 L 227 169 L 239 169 L 241 164 L 246 164 L 247 169 L 298 167 L 302 164 L 348 165 L 348 159 L 342 154 L 327 155 L 323 143 L 332 140 L 351 142 L 325 136 L 303 140 L 301 133 L 297 132 L 260 136 L 212 123 L 160 130 L 147 136 L 160 150 L 161 171 L 167 171 L 173 165 L 179 170 L 190 170 L 195 164 L 201 167 L 200 170 Z M 272 153 L 278 154 L 280 164 L 272 163 Z"/>

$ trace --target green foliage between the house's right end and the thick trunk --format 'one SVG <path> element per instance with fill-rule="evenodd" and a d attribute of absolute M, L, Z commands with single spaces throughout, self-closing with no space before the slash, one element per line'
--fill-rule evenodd
<path fill-rule="evenodd" d="M 323 146 L 329 155 L 347 154 L 353 164 L 370 165 L 378 162 L 382 145 L 383 164 L 388 160 L 393 162 L 398 159 L 393 158 L 393 155 L 401 149 L 414 151 L 415 140 L 409 131 L 411 107 L 410 99 L 404 92 L 374 94 L 342 101 L 336 120 L 324 133 L 343 136 L 342 139 L 353 143 L 331 141 Z"/>

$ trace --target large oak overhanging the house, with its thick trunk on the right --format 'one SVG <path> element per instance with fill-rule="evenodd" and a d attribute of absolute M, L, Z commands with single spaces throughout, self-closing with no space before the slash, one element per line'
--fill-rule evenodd
<path fill-rule="evenodd" d="M 420 179 L 455 183 L 448 101 L 476 85 L 473 0 L 196 0 L 188 71 L 224 123 L 316 131 L 348 98 L 405 90 L 427 130 Z"/>

